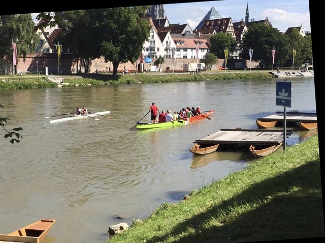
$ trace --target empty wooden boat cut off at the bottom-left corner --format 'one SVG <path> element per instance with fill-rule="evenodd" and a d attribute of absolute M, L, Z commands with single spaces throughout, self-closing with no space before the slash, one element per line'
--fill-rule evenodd
<path fill-rule="evenodd" d="M 9 234 L 0 234 L 0 242 L 40 243 L 55 223 L 55 219 L 41 219 Z"/>

